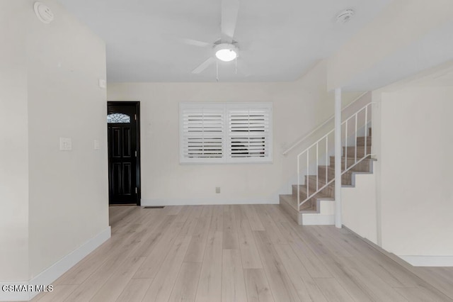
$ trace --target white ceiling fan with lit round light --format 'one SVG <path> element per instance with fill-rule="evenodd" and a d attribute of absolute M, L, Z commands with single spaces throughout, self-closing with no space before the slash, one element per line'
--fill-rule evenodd
<path fill-rule="evenodd" d="M 217 60 L 221 60 L 223 62 L 231 62 L 235 60 L 235 67 L 237 72 L 237 58 L 239 57 L 239 46 L 237 41 L 233 39 L 239 12 L 239 0 L 222 0 L 221 9 L 221 36 L 218 40 L 214 41 L 214 43 L 207 43 L 192 39 L 183 39 L 183 42 L 189 45 L 195 45 L 199 47 L 212 47 L 212 56 L 205 60 L 205 62 L 202 62 L 200 65 L 195 67 L 192 73 L 200 74 L 205 69 L 207 69 L 207 67 L 210 67 L 210 65 L 216 63 L 217 81 L 219 80 Z M 245 72 L 245 63 L 241 62 L 241 65 L 242 72 L 244 74 L 248 74 L 247 72 Z"/>

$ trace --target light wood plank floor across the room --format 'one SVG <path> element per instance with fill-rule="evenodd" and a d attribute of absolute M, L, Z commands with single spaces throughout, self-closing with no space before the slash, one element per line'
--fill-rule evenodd
<path fill-rule="evenodd" d="M 453 268 L 413 268 L 277 205 L 112 207 L 110 224 L 34 301 L 453 301 Z"/>

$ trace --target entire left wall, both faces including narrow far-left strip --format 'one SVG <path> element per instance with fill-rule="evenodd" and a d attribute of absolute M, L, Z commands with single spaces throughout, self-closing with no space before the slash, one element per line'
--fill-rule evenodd
<path fill-rule="evenodd" d="M 109 228 L 105 45 L 56 0 L 41 23 L 34 2 L 0 6 L 0 281 L 33 279 Z"/>

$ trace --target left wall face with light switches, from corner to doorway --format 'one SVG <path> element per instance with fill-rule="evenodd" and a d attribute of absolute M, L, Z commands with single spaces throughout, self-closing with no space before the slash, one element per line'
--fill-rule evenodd
<path fill-rule="evenodd" d="M 45 3 L 49 25 L 28 11 L 30 279 L 108 228 L 105 44 Z M 59 151 L 59 137 L 71 151 Z"/>

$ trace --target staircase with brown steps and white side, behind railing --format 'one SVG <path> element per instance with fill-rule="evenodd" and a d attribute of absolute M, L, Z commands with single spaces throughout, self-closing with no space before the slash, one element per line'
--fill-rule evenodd
<path fill-rule="evenodd" d="M 348 121 L 345 121 L 345 123 L 348 123 Z M 355 123 L 357 123 L 357 119 Z M 367 125 L 367 123 L 365 123 L 365 125 Z M 355 145 L 352 147 L 343 147 L 343 155 L 341 157 L 342 186 L 354 187 L 355 174 L 372 173 L 372 161 L 374 161 L 374 159 L 369 155 L 372 146 L 371 135 L 371 128 L 368 128 L 366 137 L 357 137 Z M 343 143 L 343 145 L 345 144 Z M 318 146 L 316 146 L 316 150 L 318 150 Z M 356 150 L 357 155 L 355 155 Z M 365 154 L 365 152 L 367 152 L 367 154 Z M 297 221 L 299 225 L 334 224 L 335 180 L 333 179 L 335 179 L 335 157 L 331 156 L 329 160 L 330 162 L 328 165 L 318 165 L 317 175 L 305 175 L 304 184 L 292 185 L 292 194 L 280 195 L 280 206 L 289 214 L 289 216 Z M 347 171 L 345 171 L 345 164 Z M 307 184 L 310 194 L 308 200 Z M 323 186 L 325 187 L 323 188 Z M 322 189 L 318 190 L 318 188 Z M 299 191 L 300 206 L 298 203 L 297 191 Z M 316 194 L 314 194 L 314 192 L 316 192 Z"/>

